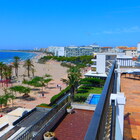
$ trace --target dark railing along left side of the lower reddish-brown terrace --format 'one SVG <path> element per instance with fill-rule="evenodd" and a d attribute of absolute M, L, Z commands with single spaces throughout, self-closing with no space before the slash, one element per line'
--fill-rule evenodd
<path fill-rule="evenodd" d="M 50 124 L 50 120 L 52 120 L 52 118 L 58 117 L 56 114 L 58 112 L 61 113 L 60 110 L 64 107 L 66 108 L 66 106 L 70 104 L 70 98 L 70 95 L 66 94 L 43 118 L 37 120 L 33 126 L 23 130 L 19 135 L 15 136 L 14 140 L 37 140 L 36 137 L 42 138 L 42 134 L 45 132 L 48 123 Z M 64 110 L 66 110 L 65 108 Z"/>

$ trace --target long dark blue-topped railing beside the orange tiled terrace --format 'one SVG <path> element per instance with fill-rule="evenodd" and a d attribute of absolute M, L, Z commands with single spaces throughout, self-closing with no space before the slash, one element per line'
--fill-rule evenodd
<path fill-rule="evenodd" d="M 102 95 L 88 127 L 85 140 L 115 139 L 115 106 L 110 105 L 110 95 L 116 89 L 115 65 L 113 63 L 106 79 Z"/>

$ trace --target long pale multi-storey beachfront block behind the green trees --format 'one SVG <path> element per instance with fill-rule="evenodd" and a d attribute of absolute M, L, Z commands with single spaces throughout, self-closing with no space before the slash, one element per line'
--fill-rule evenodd
<path fill-rule="evenodd" d="M 94 52 L 99 52 L 100 47 L 98 45 L 89 45 L 89 46 L 68 46 L 65 47 L 65 56 L 84 56 L 84 55 L 93 55 Z"/>

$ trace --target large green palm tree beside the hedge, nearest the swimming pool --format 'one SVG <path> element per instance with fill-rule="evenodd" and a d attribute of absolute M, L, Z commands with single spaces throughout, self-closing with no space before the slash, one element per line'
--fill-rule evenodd
<path fill-rule="evenodd" d="M 67 72 L 68 72 L 68 79 L 61 79 L 61 81 L 71 87 L 72 99 L 73 99 L 75 91 L 80 82 L 81 72 L 80 72 L 80 68 L 77 66 L 70 67 L 70 69 Z"/>

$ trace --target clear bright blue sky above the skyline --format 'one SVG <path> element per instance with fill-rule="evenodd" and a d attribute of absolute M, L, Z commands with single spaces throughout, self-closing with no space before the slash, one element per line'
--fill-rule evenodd
<path fill-rule="evenodd" d="M 0 49 L 138 42 L 139 0 L 0 0 Z"/>

